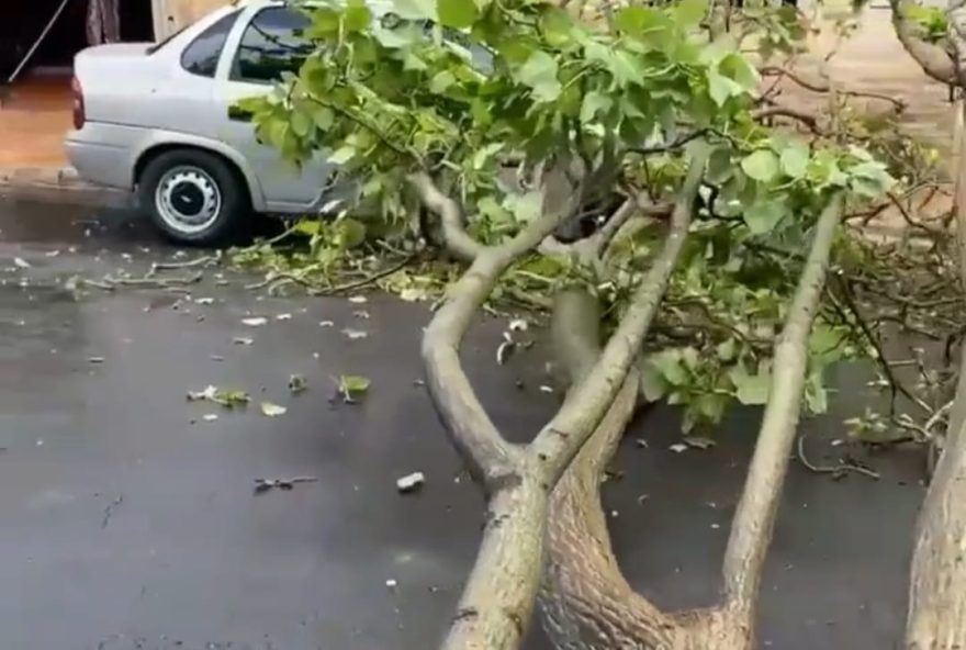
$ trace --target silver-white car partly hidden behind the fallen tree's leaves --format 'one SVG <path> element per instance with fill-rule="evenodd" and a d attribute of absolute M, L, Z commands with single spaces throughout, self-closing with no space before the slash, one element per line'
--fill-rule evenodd
<path fill-rule="evenodd" d="M 170 238 L 212 244 L 252 213 L 304 214 L 353 191 L 317 155 L 301 170 L 256 141 L 237 100 L 267 92 L 311 51 L 308 18 L 280 0 L 237 1 L 158 44 L 77 55 L 65 148 L 79 176 L 136 191 Z"/>

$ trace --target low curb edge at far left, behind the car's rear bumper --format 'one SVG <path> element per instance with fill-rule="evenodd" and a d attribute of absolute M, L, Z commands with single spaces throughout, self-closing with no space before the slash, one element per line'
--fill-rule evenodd
<path fill-rule="evenodd" d="M 117 204 L 130 192 L 82 180 L 72 167 L 0 167 L 0 195 Z"/>

